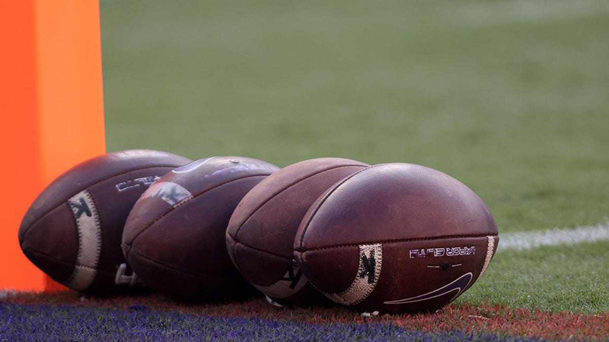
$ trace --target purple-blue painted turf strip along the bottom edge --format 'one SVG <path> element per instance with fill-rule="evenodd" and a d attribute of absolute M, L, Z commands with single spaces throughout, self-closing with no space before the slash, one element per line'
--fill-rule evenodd
<path fill-rule="evenodd" d="M 412 332 L 393 324 L 306 324 L 260 318 L 194 316 L 47 305 L 0 304 L 0 340 L 232 341 L 541 341 L 488 333 Z"/>

